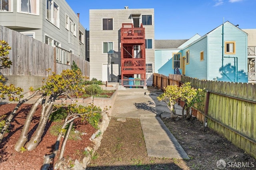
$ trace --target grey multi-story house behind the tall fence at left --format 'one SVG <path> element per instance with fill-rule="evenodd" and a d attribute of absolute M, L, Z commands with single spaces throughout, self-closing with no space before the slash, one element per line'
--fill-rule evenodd
<path fill-rule="evenodd" d="M 0 0 L 0 25 L 86 59 L 85 29 L 65 0 Z M 63 50 L 56 53 L 68 64 Z"/>

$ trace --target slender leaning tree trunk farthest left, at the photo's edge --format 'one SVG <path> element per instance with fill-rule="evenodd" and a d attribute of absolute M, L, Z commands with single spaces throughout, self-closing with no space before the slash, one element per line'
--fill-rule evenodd
<path fill-rule="evenodd" d="M 32 95 L 28 96 L 26 99 L 20 101 L 16 107 L 13 109 L 12 113 L 8 116 L 8 118 L 6 119 L 6 123 L 4 125 L 4 128 L 2 129 L 1 133 L 0 133 L 0 144 L 2 143 L 2 140 L 4 138 L 4 134 L 6 133 L 6 130 L 8 129 L 8 126 L 10 125 L 14 115 L 17 113 L 18 109 L 20 108 L 20 106 L 22 104 L 24 104 L 25 102 L 27 102 L 28 100 L 30 100 L 31 98 L 33 98 L 34 96 L 36 96 L 36 94 L 39 92 L 39 90 L 37 90 L 36 92 L 34 92 Z"/>

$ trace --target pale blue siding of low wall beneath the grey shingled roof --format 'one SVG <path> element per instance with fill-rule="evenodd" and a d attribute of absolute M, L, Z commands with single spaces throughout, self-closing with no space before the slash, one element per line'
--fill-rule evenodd
<path fill-rule="evenodd" d="M 178 53 L 180 50 L 156 50 L 155 51 L 155 72 L 169 76 L 174 74 L 173 68 L 173 53 Z M 181 64 L 181 63 L 180 63 Z M 180 72 L 182 70 L 180 69 Z"/>

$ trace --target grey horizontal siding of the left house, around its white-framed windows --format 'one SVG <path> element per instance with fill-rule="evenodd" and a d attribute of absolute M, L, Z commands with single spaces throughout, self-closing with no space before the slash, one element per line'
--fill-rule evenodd
<path fill-rule="evenodd" d="M 1 25 L 18 32 L 34 32 L 34 38 L 42 42 L 45 42 L 45 35 L 47 35 L 58 41 L 62 49 L 67 51 L 72 49 L 74 55 L 85 59 L 85 43 L 82 44 L 79 41 L 79 28 L 84 34 L 85 41 L 84 27 L 81 24 L 78 26 L 78 16 L 65 0 L 54 0 L 54 2 L 59 6 L 59 27 L 56 27 L 50 21 L 46 20 L 46 0 L 39 0 L 39 15 L 17 12 L 17 1 L 13 0 L 13 12 L 0 12 Z M 76 36 L 73 35 L 73 44 L 68 42 L 68 33 L 70 31 L 65 28 L 66 14 L 68 14 L 70 19 L 76 24 Z"/>

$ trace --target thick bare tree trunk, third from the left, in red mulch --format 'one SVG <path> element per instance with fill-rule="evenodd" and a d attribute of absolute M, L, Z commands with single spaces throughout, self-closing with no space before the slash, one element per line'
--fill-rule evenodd
<path fill-rule="evenodd" d="M 42 135 L 44 133 L 44 128 L 45 128 L 45 126 L 48 122 L 48 118 L 49 118 L 50 113 L 52 111 L 52 107 L 54 105 L 54 102 L 51 101 L 50 103 L 47 103 L 46 105 L 47 105 L 46 106 L 47 108 L 45 109 L 45 113 L 43 113 L 43 118 L 42 118 L 40 124 L 36 128 L 36 131 L 34 132 L 30 141 L 28 141 L 28 143 L 26 143 L 26 149 L 28 149 L 28 151 L 34 150 L 38 146 L 40 141 L 42 140 Z"/>

